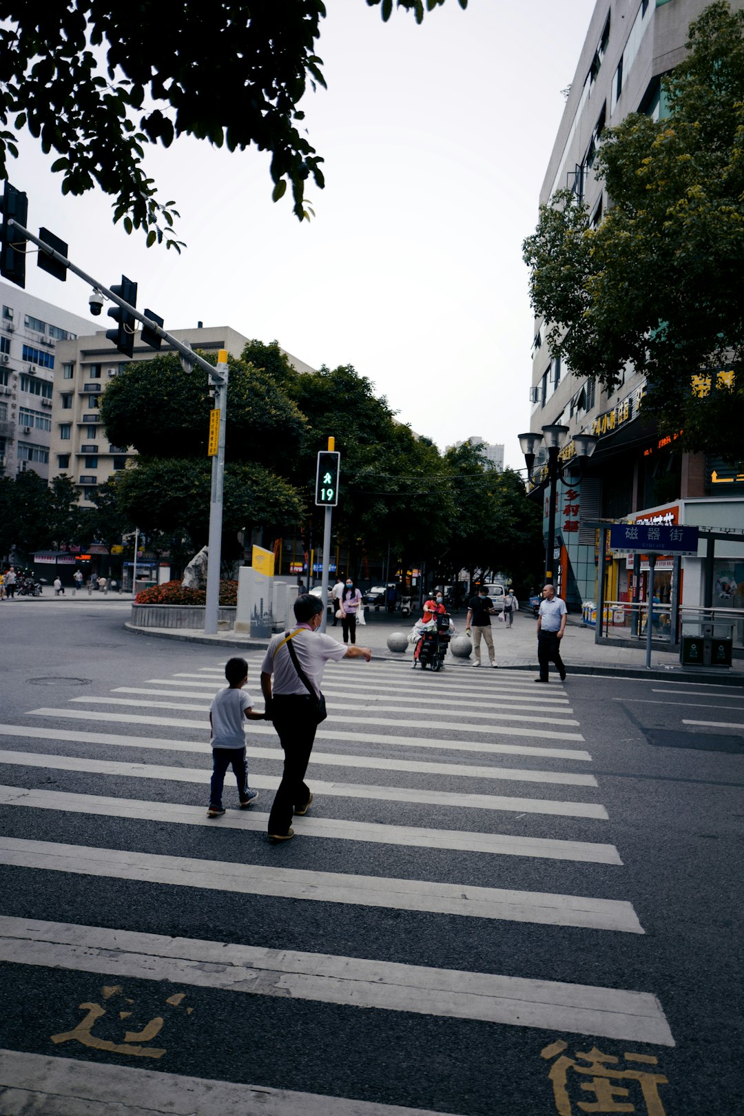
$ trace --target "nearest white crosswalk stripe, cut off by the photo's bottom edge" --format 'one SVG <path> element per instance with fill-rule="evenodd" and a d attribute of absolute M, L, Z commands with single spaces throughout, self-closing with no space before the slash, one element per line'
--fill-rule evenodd
<path fill-rule="evenodd" d="M 16 1050 L 0 1050 L 0 1103 L 47 1116 L 454 1116 Z"/>

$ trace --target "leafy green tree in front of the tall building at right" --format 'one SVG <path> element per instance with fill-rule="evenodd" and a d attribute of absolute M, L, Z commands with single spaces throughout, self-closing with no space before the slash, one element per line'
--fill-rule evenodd
<path fill-rule="evenodd" d="M 663 79 L 668 115 L 602 133 L 593 173 L 610 205 L 592 228 L 559 191 L 524 242 L 553 356 L 608 388 L 632 365 L 644 413 L 682 445 L 742 458 L 744 11 L 716 0 Z M 723 375 L 719 375 L 723 373 Z"/>

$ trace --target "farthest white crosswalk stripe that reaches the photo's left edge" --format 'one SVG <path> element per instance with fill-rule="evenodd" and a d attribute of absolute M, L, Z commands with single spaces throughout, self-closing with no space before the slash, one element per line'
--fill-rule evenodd
<path fill-rule="evenodd" d="M 0 735 L 27 737 L 35 740 L 49 741 L 46 729 L 31 729 L 18 724 L 0 724 Z M 209 744 L 192 740 L 162 740 L 157 737 L 127 737 L 107 732 L 73 732 L 69 729 L 55 729 L 56 741 L 68 740 L 80 743 L 112 744 L 120 748 L 149 748 L 154 751 L 195 752 L 200 756 L 209 753 Z M 281 759 L 277 748 L 248 747 L 250 759 Z M 389 760 L 379 756 L 341 756 L 335 752 L 312 752 L 312 762 L 328 767 L 363 768 L 376 771 L 410 771 L 417 775 L 444 775 L 466 779 L 497 779 L 514 782 L 544 782 L 568 787 L 597 787 L 593 775 L 580 775 L 571 771 L 539 771 L 525 768 L 481 767 L 470 763 L 432 763 L 426 760 Z"/>

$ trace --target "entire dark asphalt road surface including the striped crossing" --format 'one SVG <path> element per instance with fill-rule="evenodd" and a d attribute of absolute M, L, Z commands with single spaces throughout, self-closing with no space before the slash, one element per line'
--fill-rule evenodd
<path fill-rule="evenodd" d="M 127 613 L 0 605 L 0 1112 L 743 1110 L 744 690 L 340 663 L 271 846 Z"/>

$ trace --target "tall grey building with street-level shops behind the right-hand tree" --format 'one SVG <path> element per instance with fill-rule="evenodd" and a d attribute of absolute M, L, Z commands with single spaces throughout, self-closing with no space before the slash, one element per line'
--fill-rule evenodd
<path fill-rule="evenodd" d="M 744 0 L 732 0 L 731 6 L 744 8 Z M 602 132 L 632 112 L 664 118 L 661 77 L 684 58 L 688 26 L 706 7 L 706 0 L 598 0 L 548 162 L 541 204 L 557 190 L 569 189 L 588 205 L 592 223 L 601 221 L 608 199 L 593 165 Z M 580 608 L 584 600 L 597 599 L 596 531 L 588 522 L 642 519 L 659 508 L 675 517 L 667 522 L 682 522 L 683 501 L 703 500 L 723 488 L 726 497 L 744 496 L 744 475 L 737 478 L 735 470 L 729 475 L 721 462 L 702 454 L 679 453 L 674 437 L 659 439 L 644 420 L 645 381 L 632 367 L 610 394 L 593 379 L 579 381 L 562 368 L 544 344 L 549 326 L 534 323 L 529 429 L 568 426 L 564 459 L 572 453 L 573 435 L 599 437 L 583 477 L 569 475 L 558 485 L 553 566 L 561 596 L 570 607 Z M 532 491 L 543 499 L 547 523 L 545 461 L 543 450 L 535 462 Z M 727 521 L 725 509 L 721 516 Z M 721 560 L 726 560 L 723 555 Z M 668 565 L 669 570 L 658 575 L 661 599 L 668 599 L 671 559 Z M 631 574 L 625 561 L 610 569 L 608 596 L 628 599 Z"/>

